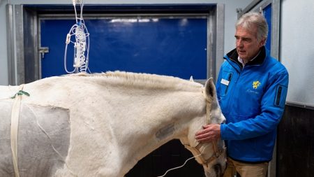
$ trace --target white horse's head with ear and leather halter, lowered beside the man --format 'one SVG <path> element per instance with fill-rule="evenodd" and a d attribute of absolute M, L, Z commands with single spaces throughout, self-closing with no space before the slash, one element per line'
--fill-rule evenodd
<path fill-rule="evenodd" d="M 180 139 L 181 143 L 195 156 L 196 161 L 204 167 L 207 177 L 223 176 L 226 167 L 225 144 L 219 139 L 211 143 L 200 143 L 195 139 L 195 133 L 202 129 L 204 124 L 221 124 L 225 122 L 225 117 L 221 113 L 216 97 L 216 88 L 213 79 L 207 80 L 204 87 L 204 100 L 206 102 L 206 114 L 200 120 L 193 120 L 188 128 L 187 139 Z"/>

